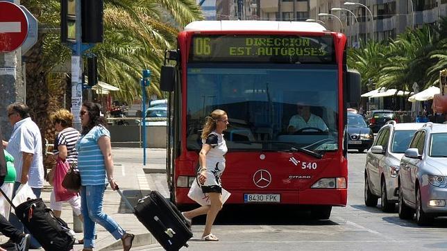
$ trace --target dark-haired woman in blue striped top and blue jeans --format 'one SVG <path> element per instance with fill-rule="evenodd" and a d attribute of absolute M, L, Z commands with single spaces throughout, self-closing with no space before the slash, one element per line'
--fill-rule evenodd
<path fill-rule="evenodd" d="M 86 101 L 81 108 L 83 130 L 76 144 L 78 168 L 81 173 L 81 207 L 84 217 L 84 251 L 93 250 L 95 224 L 99 223 L 108 232 L 121 239 L 123 250 L 130 250 L 133 234 L 126 233 L 110 216 L 103 212 L 104 191 L 107 184 L 115 190 L 113 179 L 112 148 L 110 132 L 103 126 L 99 105 Z"/>

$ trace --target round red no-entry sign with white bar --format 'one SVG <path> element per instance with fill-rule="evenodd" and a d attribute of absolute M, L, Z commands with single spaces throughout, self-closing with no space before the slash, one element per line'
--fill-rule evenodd
<path fill-rule="evenodd" d="M 15 51 L 28 34 L 25 12 L 14 3 L 0 1 L 0 53 Z"/>

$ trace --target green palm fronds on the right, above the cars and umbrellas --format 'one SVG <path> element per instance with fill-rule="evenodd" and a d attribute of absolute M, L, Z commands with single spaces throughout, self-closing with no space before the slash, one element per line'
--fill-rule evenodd
<path fill-rule="evenodd" d="M 362 74 L 362 90 L 369 78 L 376 87 L 411 90 L 414 82 L 425 89 L 437 84 L 447 68 L 447 18 L 437 26 L 407 29 L 389 42 L 371 42 L 348 50 L 348 66 Z M 369 87 L 369 88 L 368 88 Z"/>

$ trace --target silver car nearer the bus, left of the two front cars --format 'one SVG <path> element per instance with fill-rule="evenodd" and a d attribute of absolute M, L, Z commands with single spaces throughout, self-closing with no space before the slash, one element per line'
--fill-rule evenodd
<path fill-rule="evenodd" d="M 364 171 L 364 202 L 376 207 L 378 198 L 382 211 L 394 211 L 398 202 L 398 171 L 400 158 L 410 145 L 414 132 L 421 123 L 388 121 L 366 153 Z"/>

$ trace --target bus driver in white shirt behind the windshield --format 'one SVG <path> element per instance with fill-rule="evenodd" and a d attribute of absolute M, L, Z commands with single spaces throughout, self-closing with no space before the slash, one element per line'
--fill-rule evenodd
<path fill-rule="evenodd" d="M 326 126 L 326 123 L 324 123 L 323 119 L 310 112 L 309 105 L 298 104 L 297 109 L 298 114 L 290 118 L 287 132 L 294 133 L 303 128 L 318 128 L 323 132 L 326 132 L 328 130 L 328 126 Z"/>

